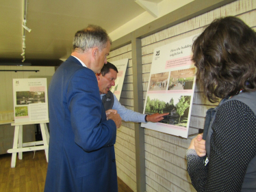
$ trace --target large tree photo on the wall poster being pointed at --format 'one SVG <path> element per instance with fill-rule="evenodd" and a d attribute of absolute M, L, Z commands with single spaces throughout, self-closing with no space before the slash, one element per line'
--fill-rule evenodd
<path fill-rule="evenodd" d="M 187 127 L 190 99 L 191 96 L 177 94 L 151 94 L 146 98 L 144 113 L 147 115 L 169 113 L 164 117 L 164 120 L 158 123 Z"/>

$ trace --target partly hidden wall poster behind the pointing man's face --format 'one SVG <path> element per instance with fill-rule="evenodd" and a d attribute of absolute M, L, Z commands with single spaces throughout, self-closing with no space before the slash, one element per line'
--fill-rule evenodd
<path fill-rule="evenodd" d="M 128 64 L 128 58 L 127 59 L 121 59 L 118 61 L 111 61 L 114 66 L 116 66 L 118 70 L 117 78 L 115 81 L 115 85 L 111 87 L 110 91 L 116 96 L 116 98 L 119 100 L 123 88 L 123 82 L 125 80 L 125 72 Z"/>

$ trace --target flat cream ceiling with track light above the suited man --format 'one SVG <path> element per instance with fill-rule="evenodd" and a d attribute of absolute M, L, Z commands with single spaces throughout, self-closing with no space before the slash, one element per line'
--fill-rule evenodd
<path fill-rule="evenodd" d="M 36 60 L 57 61 L 69 55 L 75 32 L 88 24 L 100 25 L 111 33 L 145 12 L 134 0 L 27 1 L 27 27 L 31 32 L 25 32 L 25 63 L 34 60 L 34 64 Z M 23 0 L 0 2 L 1 65 L 23 59 L 23 8 Z"/>

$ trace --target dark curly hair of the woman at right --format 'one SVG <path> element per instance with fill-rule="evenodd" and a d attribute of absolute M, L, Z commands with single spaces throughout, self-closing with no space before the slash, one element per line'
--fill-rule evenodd
<path fill-rule="evenodd" d="M 196 38 L 192 61 L 210 102 L 256 87 L 256 33 L 240 18 L 214 20 Z"/>

